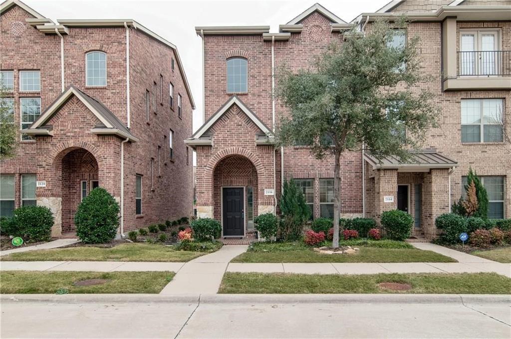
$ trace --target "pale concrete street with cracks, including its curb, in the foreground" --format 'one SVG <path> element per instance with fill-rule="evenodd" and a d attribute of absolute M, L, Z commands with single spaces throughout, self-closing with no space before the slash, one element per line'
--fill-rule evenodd
<path fill-rule="evenodd" d="M 509 297 L 2 296 L 2 338 L 509 338 Z M 32 299 L 32 300 L 31 300 Z M 462 301 L 463 300 L 463 301 Z"/>

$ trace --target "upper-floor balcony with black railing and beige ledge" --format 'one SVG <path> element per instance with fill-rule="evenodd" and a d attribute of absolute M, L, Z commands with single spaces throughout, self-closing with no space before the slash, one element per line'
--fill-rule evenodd
<path fill-rule="evenodd" d="M 511 89 L 511 51 L 456 52 L 456 76 L 444 79 L 444 91 L 479 89 Z"/>

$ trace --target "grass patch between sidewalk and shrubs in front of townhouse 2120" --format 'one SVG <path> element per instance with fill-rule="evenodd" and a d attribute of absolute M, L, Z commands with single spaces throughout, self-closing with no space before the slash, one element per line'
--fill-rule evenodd
<path fill-rule="evenodd" d="M 205 252 L 176 251 L 174 246 L 161 244 L 126 243 L 110 248 L 77 246 L 13 253 L 3 261 L 165 261 L 183 262 Z"/>

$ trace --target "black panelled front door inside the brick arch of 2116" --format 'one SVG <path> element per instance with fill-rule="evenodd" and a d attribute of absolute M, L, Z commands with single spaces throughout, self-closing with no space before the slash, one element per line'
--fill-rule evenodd
<path fill-rule="evenodd" d="M 243 187 L 224 187 L 223 192 L 223 235 L 243 236 L 245 233 Z"/>

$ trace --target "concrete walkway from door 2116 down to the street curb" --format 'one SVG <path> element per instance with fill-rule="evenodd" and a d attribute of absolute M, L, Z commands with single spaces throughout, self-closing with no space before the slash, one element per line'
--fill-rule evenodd
<path fill-rule="evenodd" d="M 247 251 L 247 245 L 224 245 L 219 251 L 185 263 L 160 294 L 214 294 L 229 261 Z"/>

